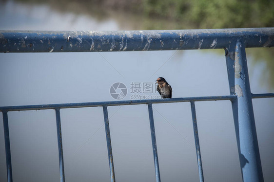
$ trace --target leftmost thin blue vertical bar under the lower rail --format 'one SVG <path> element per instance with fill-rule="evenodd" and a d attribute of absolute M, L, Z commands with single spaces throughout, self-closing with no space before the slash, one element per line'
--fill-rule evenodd
<path fill-rule="evenodd" d="M 3 114 L 3 125 L 4 125 L 4 135 L 5 135 L 7 177 L 8 177 L 8 182 L 12 182 L 12 167 L 11 167 L 8 113 L 6 111 L 2 111 L 2 114 Z"/>

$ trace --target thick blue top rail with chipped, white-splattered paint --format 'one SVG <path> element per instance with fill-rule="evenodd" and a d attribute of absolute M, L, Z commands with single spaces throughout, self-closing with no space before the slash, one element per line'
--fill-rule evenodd
<path fill-rule="evenodd" d="M 98 52 L 273 47 L 274 28 L 162 31 L 0 31 L 0 52 Z"/>

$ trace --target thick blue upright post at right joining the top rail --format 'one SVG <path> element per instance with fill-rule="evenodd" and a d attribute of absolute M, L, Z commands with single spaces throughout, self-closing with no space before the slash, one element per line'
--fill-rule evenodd
<path fill-rule="evenodd" d="M 244 182 L 263 182 L 262 166 L 254 121 L 245 46 L 237 40 L 226 50 L 235 132 Z"/>

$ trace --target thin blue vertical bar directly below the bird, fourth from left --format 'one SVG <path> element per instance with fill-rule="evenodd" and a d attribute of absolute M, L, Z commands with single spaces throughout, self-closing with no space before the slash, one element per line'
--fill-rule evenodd
<path fill-rule="evenodd" d="M 158 153 L 157 153 L 156 135 L 155 135 L 155 128 L 154 128 L 153 110 L 152 110 L 152 104 L 151 103 L 148 103 L 148 114 L 149 114 L 152 149 L 153 149 L 153 157 L 154 157 L 154 165 L 155 165 L 155 173 L 156 173 L 156 182 L 160 182 L 161 181 L 161 179 L 160 179 L 160 169 L 159 169 L 159 162 L 158 162 Z"/>

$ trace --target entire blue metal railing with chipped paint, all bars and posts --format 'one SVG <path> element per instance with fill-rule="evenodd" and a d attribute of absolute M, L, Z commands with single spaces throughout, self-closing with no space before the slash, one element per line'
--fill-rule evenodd
<path fill-rule="evenodd" d="M 156 181 L 160 182 L 156 134 L 152 104 L 190 102 L 200 182 L 204 181 L 199 146 L 196 101 L 231 100 L 235 133 L 244 182 L 263 182 L 262 167 L 255 130 L 252 99 L 274 97 L 274 93 L 252 94 L 249 85 L 245 48 L 273 47 L 274 28 L 212 29 L 177 31 L 0 31 L 0 52 L 77 52 L 133 50 L 224 49 L 227 63 L 229 96 L 174 99 L 122 100 L 108 102 L 65 103 L 0 107 L 3 114 L 7 177 L 12 182 L 8 112 L 55 109 L 58 133 L 60 181 L 65 181 L 60 109 L 103 107 L 111 181 L 115 182 L 114 162 L 108 119 L 108 106 L 147 104 L 149 111 Z M 249 163 L 245 163 L 248 160 Z"/>

